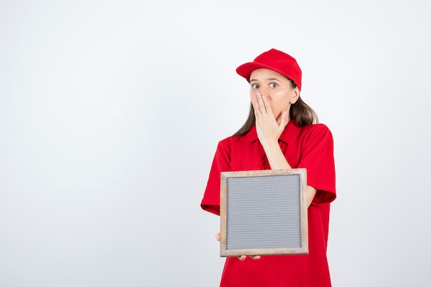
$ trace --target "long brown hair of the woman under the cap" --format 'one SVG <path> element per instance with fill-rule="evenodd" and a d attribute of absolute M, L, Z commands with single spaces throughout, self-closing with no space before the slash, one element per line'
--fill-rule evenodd
<path fill-rule="evenodd" d="M 288 80 L 291 81 L 291 79 Z M 297 87 L 293 81 L 291 81 L 291 85 L 293 89 Z M 291 105 L 289 116 L 291 116 L 291 120 L 296 121 L 296 124 L 299 127 L 304 127 L 313 123 L 319 123 L 319 118 L 317 118 L 316 112 L 309 105 L 307 105 L 304 100 L 302 100 L 301 96 L 299 96 L 296 103 Z M 247 118 L 244 125 L 240 129 L 238 129 L 238 131 L 233 134 L 233 136 L 242 136 L 248 133 L 250 129 L 254 127 L 255 124 L 255 110 L 253 108 L 253 105 L 250 103 L 249 117 Z"/>

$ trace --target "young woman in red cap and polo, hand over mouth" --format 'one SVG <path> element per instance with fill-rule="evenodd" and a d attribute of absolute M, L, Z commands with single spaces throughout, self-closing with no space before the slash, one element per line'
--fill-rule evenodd
<path fill-rule="evenodd" d="M 220 286 L 331 286 L 326 246 L 336 196 L 332 134 L 302 101 L 302 72 L 293 57 L 271 49 L 236 72 L 250 83 L 250 114 L 219 142 L 202 209 L 220 215 L 222 171 L 306 168 L 308 255 L 228 257 Z"/>

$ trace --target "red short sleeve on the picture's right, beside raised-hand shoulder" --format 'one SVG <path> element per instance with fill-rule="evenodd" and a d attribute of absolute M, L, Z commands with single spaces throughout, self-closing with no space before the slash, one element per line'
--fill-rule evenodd
<path fill-rule="evenodd" d="M 304 129 L 298 167 L 307 170 L 307 185 L 317 189 L 313 203 L 328 203 L 336 198 L 333 135 L 326 125 Z"/>

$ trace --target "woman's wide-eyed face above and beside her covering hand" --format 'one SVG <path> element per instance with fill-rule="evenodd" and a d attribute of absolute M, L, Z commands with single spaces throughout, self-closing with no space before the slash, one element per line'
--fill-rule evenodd
<path fill-rule="evenodd" d="M 277 123 L 283 111 L 289 110 L 299 97 L 299 89 L 293 88 L 291 81 L 282 74 L 269 69 L 257 69 L 250 75 L 250 98 L 254 100 L 257 93 L 266 96 L 273 110 Z M 288 118 L 290 120 L 290 118 Z"/>

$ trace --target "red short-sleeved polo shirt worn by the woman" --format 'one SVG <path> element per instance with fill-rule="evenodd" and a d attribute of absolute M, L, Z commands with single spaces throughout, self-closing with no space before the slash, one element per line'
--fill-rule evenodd
<path fill-rule="evenodd" d="M 330 286 L 326 246 L 329 206 L 335 200 L 333 136 L 322 124 L 298 127 L 291 120 L 280 136 L 280 147 L 292 168 L 307 170 L 307 185 L 317 189 L 308 207 L 308 255 L 262 256 L 244 262 L 228 257 L 220 286 L 327 287 Z M 271 169 L 256 128 L 243 136 L 219 142 L 202 209 L 220 215 L 220 172 Z"/>

